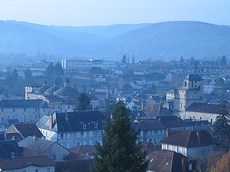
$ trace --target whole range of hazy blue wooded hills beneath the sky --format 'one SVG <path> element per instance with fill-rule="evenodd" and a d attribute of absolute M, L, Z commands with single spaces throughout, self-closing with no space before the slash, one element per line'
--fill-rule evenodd
<path fill-rule="evenodd" d="M 0 21 L 0 54 L 38 52 L 60 57 L 120 60 L 230 57 L 230 27 L 202 22 L 92 27 L 45 26 Z"/>

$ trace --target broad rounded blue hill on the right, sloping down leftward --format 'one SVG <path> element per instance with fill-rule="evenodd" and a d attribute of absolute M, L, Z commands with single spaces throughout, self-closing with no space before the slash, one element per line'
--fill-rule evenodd
<path fill-rule="evenodd" d="M 138 57 L 229 57 L 230 29 L 201 22 L 164 22 L 121 34 L 106 45 L 107 53 Z"/>

